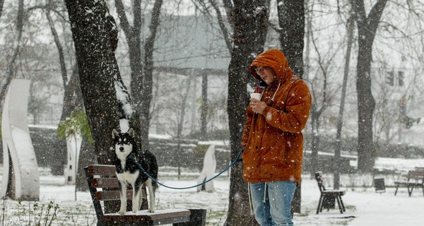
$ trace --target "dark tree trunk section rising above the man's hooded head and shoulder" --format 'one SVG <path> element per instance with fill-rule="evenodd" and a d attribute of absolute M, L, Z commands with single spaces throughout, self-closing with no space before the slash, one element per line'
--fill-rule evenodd
<path fill-rule="evenodd" d="M 293 74 L 303 76 L 305 40 L 305 1 L 277 0 L 281 51 L 288 59 Z"/>

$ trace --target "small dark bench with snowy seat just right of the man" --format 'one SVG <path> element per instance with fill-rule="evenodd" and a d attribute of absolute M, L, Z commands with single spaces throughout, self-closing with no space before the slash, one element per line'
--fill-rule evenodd
<path fill-rule="evenodd" d="M 318 201 L 317 214 L 322 212 L 323 208 L 326 208 L 327 210 L 335 208 L 335 200 L 337 200 L 338 210 L 340 210 L 340 213 L 345 212 L 346 208 L 344 207 L 343 200 L 341 199 L 341 196 L 344 196 L 345 191 L 326 189 L 324 186 L 324 180 L 322 179 L 322 172 L 315 172 L 315 179 L 317 180 L 318 188 L 321 192 L 321 196 L 319 196 Z"/>

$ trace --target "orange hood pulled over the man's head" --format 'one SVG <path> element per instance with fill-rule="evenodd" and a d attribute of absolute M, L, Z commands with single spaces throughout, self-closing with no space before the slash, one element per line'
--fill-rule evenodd
<path fill-rule="evenodd" d="M 287 59 L 283 52 L 278 49 L 269 49 L 266 52 L 259 54 L 259 56 L 252 61 L 252 64 L 250 64 L 249 72 L 252 76 L 254 76 L 254 78 L 261 80 L 261 76 L 259 76 L 254 70 L 254 67 L 257 66 L 271 67 L 274 73 L 276 73 L 276 79 L 280 82 L 283 82 L 293 76 L 292 70 L 288 66 Z"/>

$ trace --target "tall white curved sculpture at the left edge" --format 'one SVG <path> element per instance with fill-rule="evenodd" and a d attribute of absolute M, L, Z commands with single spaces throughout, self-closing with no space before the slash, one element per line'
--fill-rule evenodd
<path fill-rule="evenodd" d="M 14 200 L 38 201 L 40 196 L 40 175 L 28 129 L 29 93 L 29 80 L 13 79 L 4 100 L 1 116 L 2 198 L 7 196 Z M 13 168 L 10 169 L 9 166 Z"/>

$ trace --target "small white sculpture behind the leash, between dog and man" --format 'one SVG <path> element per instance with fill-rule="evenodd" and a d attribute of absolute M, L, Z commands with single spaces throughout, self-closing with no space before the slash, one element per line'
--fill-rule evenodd
<path fill-rule="evenodd" d="M 201 169 L 197 183 L 203 183 L 208 179 L 211 179 L 215 174 L 216 170 L 216 159 L 215 159 L 215 145 L 210 145 L 208 150 L 206 150 L 204 157 L 204 167 Z M 213 192 L 215 188 L 213 187 L 213 180 L 204 184 L 203 186 L 198 186 L 197 191 L 207 191 Z"/>

